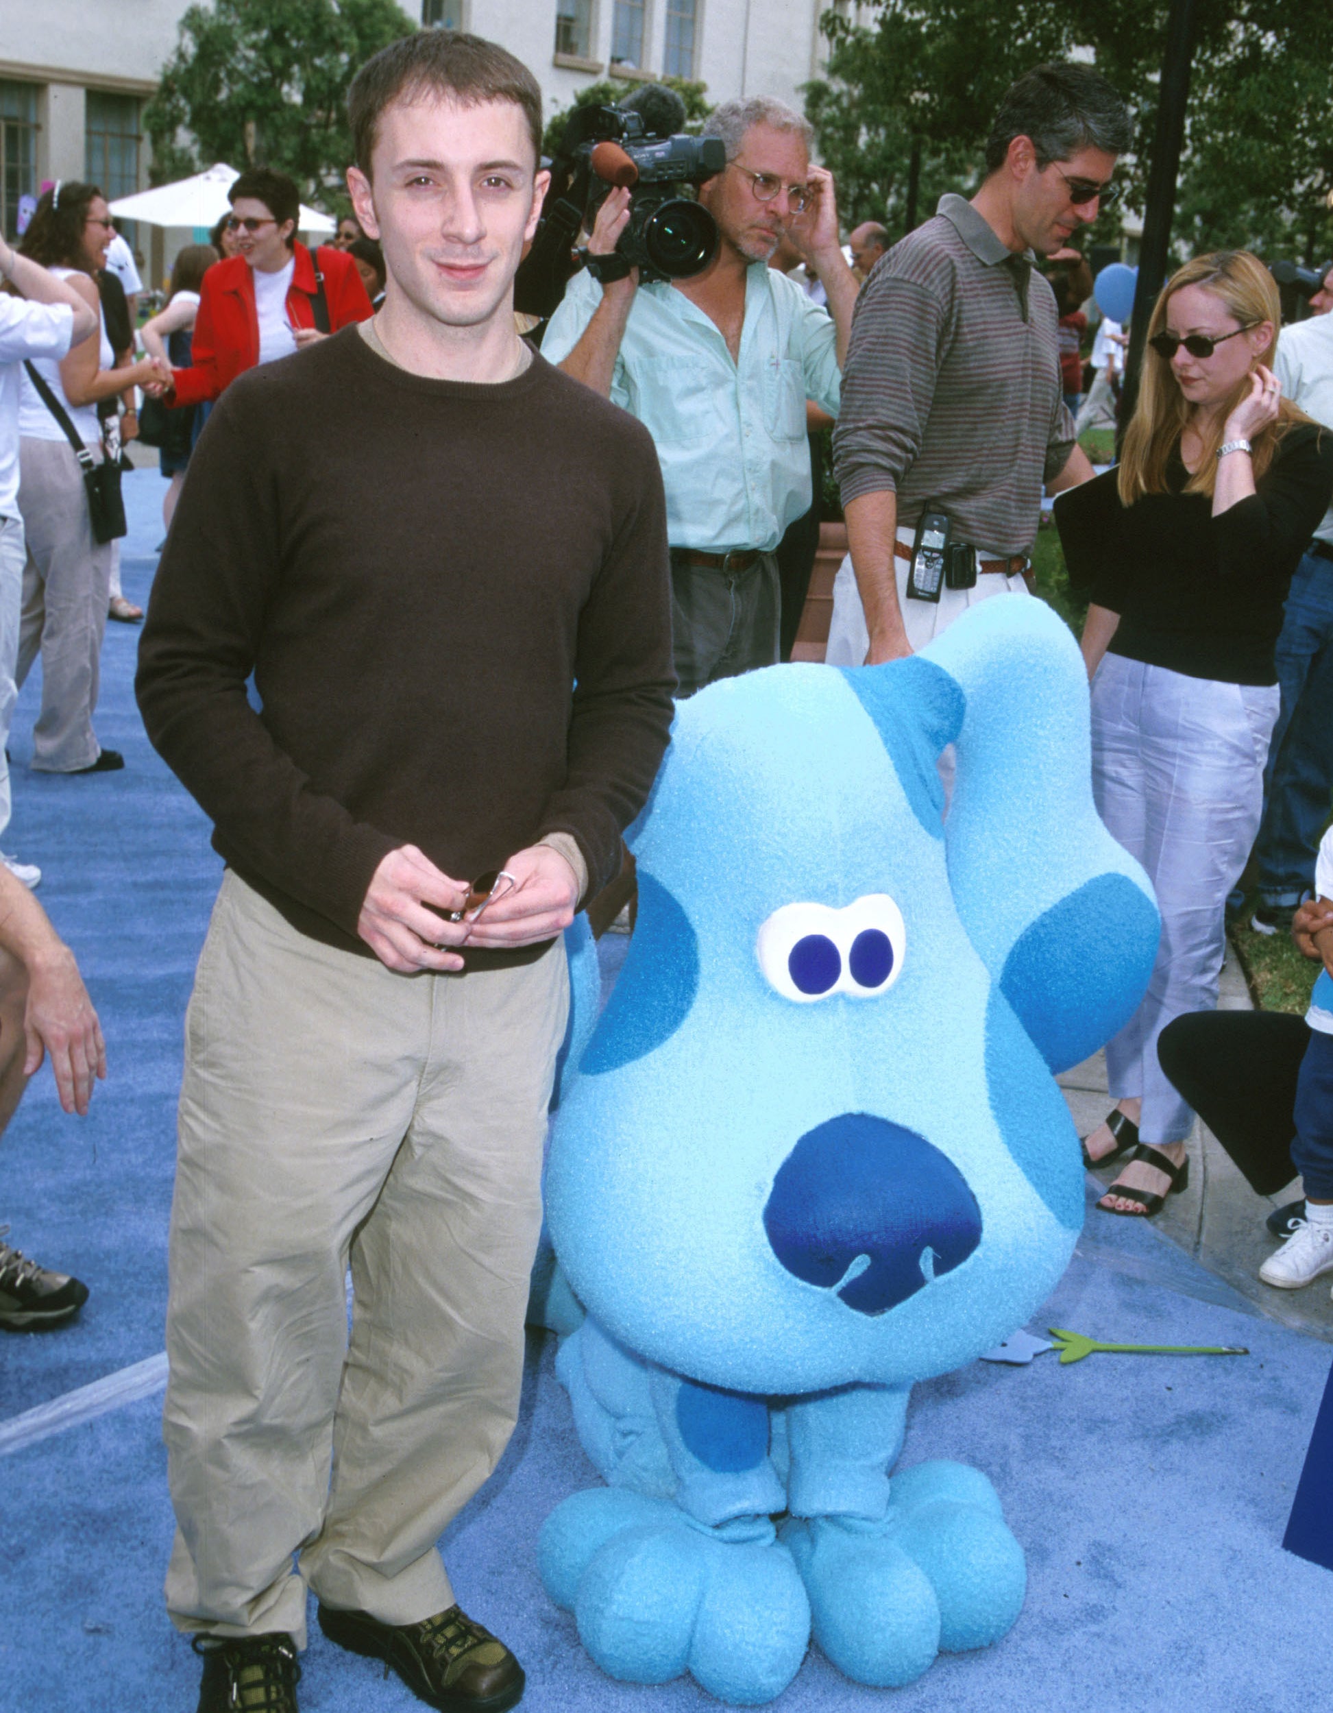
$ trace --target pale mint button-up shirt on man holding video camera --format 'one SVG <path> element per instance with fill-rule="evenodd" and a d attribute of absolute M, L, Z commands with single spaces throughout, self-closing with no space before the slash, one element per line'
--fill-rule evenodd
<path fill-rule="evenodd" d="M 576 274 L 541 341 L 548 361 L 569 356 L 600 301 L 601 286 Z M 738 361 L 684 291 L 639 286 L 612 403 L 653 435 L 672 546 L 776 548 L 810 509 L 807 397 L 838 415 L 836 332 L 793 279 L 749 269 Z"/>

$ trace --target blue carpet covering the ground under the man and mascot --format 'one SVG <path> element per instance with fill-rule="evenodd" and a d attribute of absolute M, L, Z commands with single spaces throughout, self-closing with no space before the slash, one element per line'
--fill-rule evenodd
<path fill-rule="evenodd" d="M 129 481 L 125 588 L 144 600 L 161 480 Z M 34 685 L 12 752 L 7 848 L 45 868 L 41 899 L 101 1011 L 110 1081 L 87 1120 L 65 1119 L 43 1077 L 0 1144 L 0 1221 L 31 1254 L 93 1288 L 79 1322 L 0 1340 L 0 1418 L 161 1350 L 173 1108 L 190 973 L 218 863 L 194 805 L 152 757 L 134 713 L 137 632 L 105 651 L 103 743 L 127 771 L 27 773 Z M 608 961 L 624 942 L 603 942 Z M 1314 1286 L 1319 1288 L 1319 1286 Z M 905 1463 L 959 1458 L 995 1482 L 1028 1554 L 1026 1609 L 985 1655 L 946 1658 L 918 1684 L 876 1692 L 810 1655 L 785 1713 L 1088 1708 L 1095 1713 L 1278 1713 L 1321 1706 L 1321 1634 L 1333 1574 L 1280 1549 L 1328 1374 L 1328 1346 L 1252 1312 L 1145 1221 L 1090 1215 L 1066 1278 L 1033 1328 L 1107 1340 L 1247 1345 L 1249 1357 L 1095 1355 L 1061 1369 L 973 1364 L 918 1388 Z M 550 1509 L 591 1483 L 552 1345 L 533 1338 L 524 1408 L 500 1471 L 444 1547 L 466 1607 L 528 1667 L 526 1708 L 680 1713 L 709 1706 L 689 1680 L 612 1684 L 536 1578 Z M 3 1704 L 38 1713 L 194 1708 L 197 1662 L 161 1609 L 171 1537 L 159 1400 L 0 1458 Z M 420 1706 L 396 1679 L 314 1632 L 302 1708 Z"/>

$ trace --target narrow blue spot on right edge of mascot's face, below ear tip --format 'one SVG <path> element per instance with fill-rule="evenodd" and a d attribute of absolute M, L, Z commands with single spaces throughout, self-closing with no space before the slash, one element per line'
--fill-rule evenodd
<path fill-rule="evenodd" d="M 1061 1225 L 1081 1230 L 1083 1163 L 1069 1108 L 1004 994 L 995 988 L 985 1012 L 985 1081 L 990 1110 L 1018 1170 Z"/>

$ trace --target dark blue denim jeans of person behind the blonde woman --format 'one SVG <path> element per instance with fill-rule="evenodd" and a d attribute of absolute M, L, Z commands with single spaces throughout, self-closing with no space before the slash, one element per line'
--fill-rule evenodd
<path fill-rule="evenodd" d="M 1268 904 L 1314 889 L 1314 858 L 1333 795 L 1333 560 L 1306 553 L 1276 646 L 1282 711 L 1264 773 L 1254 858 Z"/>

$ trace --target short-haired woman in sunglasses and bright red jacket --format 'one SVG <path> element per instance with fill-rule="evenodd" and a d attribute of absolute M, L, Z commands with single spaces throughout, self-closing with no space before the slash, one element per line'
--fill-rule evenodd
<path fill-rule="evenodd" d="M 356 264 L 343 250 L 296 243 L 300 192 L 286 173 L 252 168 L 228 190 L 238 254 L 206 274 L 194 324 L 194 367 L 171 372 L 171 406 L 216 399 L 255 363 L 368 320 Z"/>

